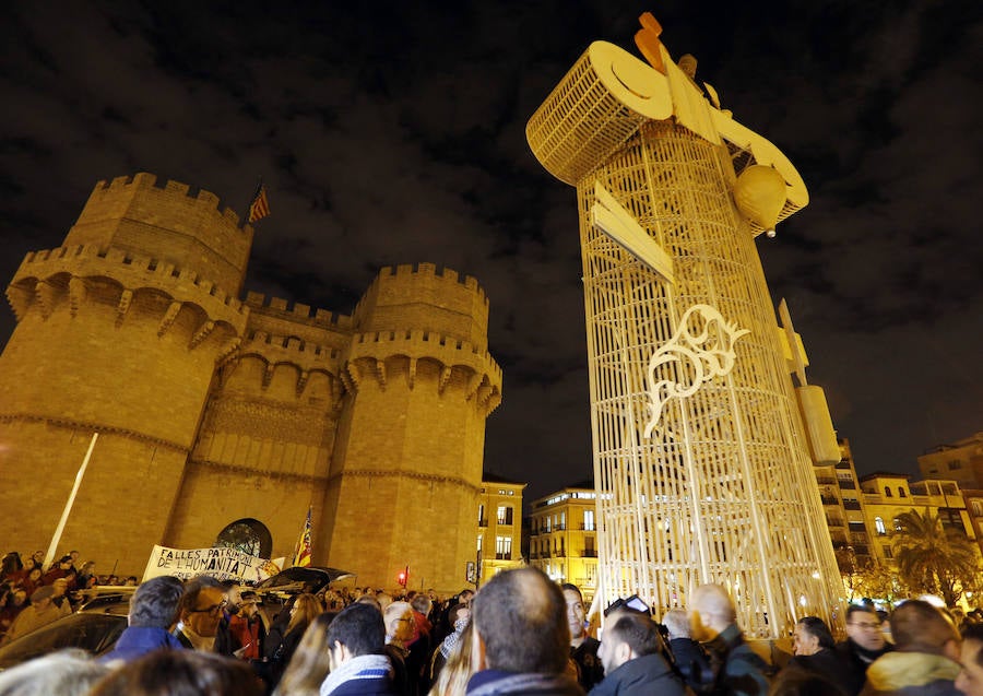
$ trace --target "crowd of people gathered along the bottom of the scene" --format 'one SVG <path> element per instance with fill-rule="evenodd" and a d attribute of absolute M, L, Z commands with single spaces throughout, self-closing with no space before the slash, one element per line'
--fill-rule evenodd
<path fill-rule="evenodd" d="M 8 634 L 23 635 L 28 611 L 47 616 L 66 564 L 71 554 Z M 22 573 L 28 565 L 4 567 L 8 594 L 32 575 Z M 68 592 L 60 597 L 68 609 L 58 615 L 71 611 Z M 0 696 L 983 696 L 980 616 L 961 617 L 960 630 L 960 617 L 923 600 L 889 616 L 850 606 L 839 642 L 821 618 L 805 616 L 781 665 L 744 639 L 718 585 L 697 588 L 661 623 L 639 598 L 618 600 L 600 635 L 580 589 L 535 568 L 446 601 L 433 590 L 328 589 L 293 594 L 263 621 L 261 600 L 208 576 L 152 578 L 135 589 L 110 652 L 37 658 L 0 674 Z"/>

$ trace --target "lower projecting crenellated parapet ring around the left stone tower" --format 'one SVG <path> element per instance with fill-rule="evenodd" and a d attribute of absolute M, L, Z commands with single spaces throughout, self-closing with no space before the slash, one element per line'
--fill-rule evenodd
<path fill-rule="evenodd" d="M 193 292 L 208 295 L 213 302 L 226 305 L 238 314 L 246 311 L 246 306 L 237 297 L 190 269 L 97 244 L 31 251 L 24 257 L 10 284 L 13 287 L 29 279 L 45 280 L 66 272 L 78 278 L 109 276 L 130 288 L 146 285 L 162 290 L 180 287 L 186 294 Z"/>

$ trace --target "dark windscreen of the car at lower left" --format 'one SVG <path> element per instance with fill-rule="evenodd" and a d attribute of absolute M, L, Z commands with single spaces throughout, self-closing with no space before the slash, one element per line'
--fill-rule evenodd
<path fill-rule="evenodd" d="M 0 669 L 64 648 L 102 654 L 116 645 L 126 627 L 126 616 L 72 614 L 0 648 Z"/>

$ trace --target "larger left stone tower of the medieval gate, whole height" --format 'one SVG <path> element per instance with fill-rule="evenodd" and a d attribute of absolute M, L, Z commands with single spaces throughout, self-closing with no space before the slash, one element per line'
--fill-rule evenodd
<path fill-rule="evenodd" d="M 206 191 L 139 174 L 90 196 L 64 246 L 27 255 L 7 295 L 0 485 L 9 545 L 46 548 L 93 432 L 100 438 L 63 546 L 103 571 L 142 569 L 162 543 L 237 299 L 252 229 Z M 105 567 L 106 565 L 110 567 Z"/>

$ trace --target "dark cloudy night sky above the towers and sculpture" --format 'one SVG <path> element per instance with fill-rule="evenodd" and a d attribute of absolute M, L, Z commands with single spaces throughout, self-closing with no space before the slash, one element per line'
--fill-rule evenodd
<path fill-rule="evenodd" d="M 505 371 L 486 469 L 534 498 L 591 472 L 572 188 L 525 122 L 638 15 L 781 148 L 812 201 L 758 239 L 857 469 L 916 473 L 983 430 L 981 3 L 14 2 L 0 23 L 0 280 L 99 179 L 151 172 L 242 211 L 248 290 L 348 314 L 382 266 L 477 278 Z M 0 344 L 13 330 L 0 309 Z"/>

